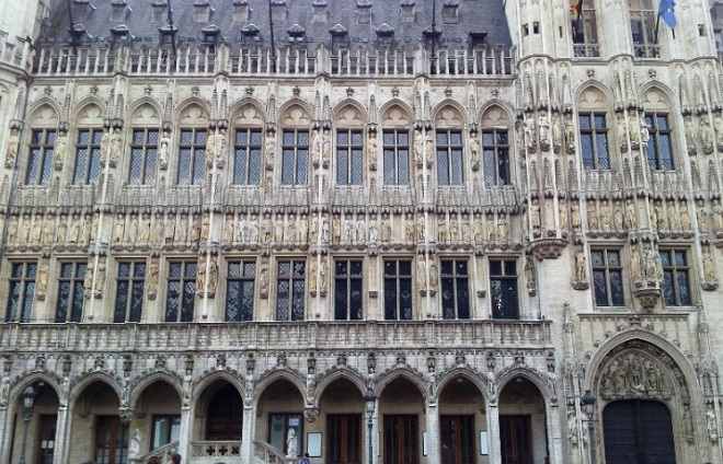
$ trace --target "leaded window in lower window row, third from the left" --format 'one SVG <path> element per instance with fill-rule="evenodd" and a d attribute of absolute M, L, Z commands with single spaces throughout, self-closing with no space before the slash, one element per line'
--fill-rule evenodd
<path fill-rule="evenodd" d="M 146 290 L 146 263 L 119 263 L 113 322 L 140 322 Z"/>

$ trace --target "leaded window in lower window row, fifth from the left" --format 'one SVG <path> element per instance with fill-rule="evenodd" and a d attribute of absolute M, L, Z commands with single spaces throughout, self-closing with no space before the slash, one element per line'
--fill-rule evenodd
<path fill-rule="evenodd" d="M 233 260 L 228 264 L 226 321 L 253 321 L 254 260 Z"/>

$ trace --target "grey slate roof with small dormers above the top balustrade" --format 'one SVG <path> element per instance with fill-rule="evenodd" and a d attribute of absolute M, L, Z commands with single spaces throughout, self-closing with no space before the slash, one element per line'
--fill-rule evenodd
<path fill-rule="evenodd" d="M 268 47 L 269 2 L 274 20 L 274 44 L 277 47 L 289 45 L 296 34 L 295 46 L 313 49 L 320 42 L 329 46 L 332 36 L 337 44 L 355 48 L 370 48 L 383 42 L 397 48 L 415 48 L 425 36 L 427 39 L 438 35 L 439 48 L 464 48 L 470 37 L 486 33 L 486 44 L 492 47 L 508 48 L 512 45 L 509 27 L 504 12 L 503 0 L 170 0 L 173 9 L 173 25 L 177 30 L 177 45 L 199 44 L 204 31 L 220 31 L 220 39 L 232 47 L 244 42 L 243 30 L 257 27 L 255 46 Z M 71 0 L 72 19 L 82 25 L 87 34 L 81 34 L 83 46 L 105 46 L 112 39 L 111 30 L 123 31 L 127 27 L 130 42 L 135 47 L 156 47 L 165 26 L 168 31 L 169 0 Z M 433 11 L 434 15 L 433 31 Z M 250 9 L 245 21 L 240 13 Z M 403 18 L 402 10 L 414 15 Z M 113 9 L 124 10 L 122 21 L 114 18 Z M 210 10 L 207 10 L 207 9 Z M 449 21 L 449 14 L 457 9 L 457 21 Z M 198 12 L 209 11 L 208 21 L 198 21 Z M 162 14 L 158 12 L 162 11 Z M 154 13 L 156 12 L 156 13 Z M 286 13 L 284 16 L 284 12 Z M 369 15 L 370 12 L 370 15 Z M 365 15 L 368 18 L 365 21 Z M 202 15 L 203 16 L 203 15 Z M 324 19 L 325 21 L 320 21 Z M 160 20 L 159 20 L 160 19 Z M 447 19 L 447 21 L 446 21 Z M 154 21 L 158 20 L 158 21 Z M 67 45 L 70 43 L 68 26 L 68 2 L 59 7 L 46 20 L 37 45 Z M 209 27 L 211 26 L 211 27 Z M 391 39 L 390 37 L 391 30 Z M 291 34 L 289 34 L 289 31 Z M 302 37 L 299 38 L 299 32 Z M 335 31 L 332 34 L 332 31 Z M 346 32 L 346 34 L 343 33 Z M 426 34 L 425 34 L 426 31 Z M 385 34 L 386 32 L 386 34 Z M 387 40 L 379 40 L 379 36 Z M 479 44 L 478 44 L 479 45 Z"/>

